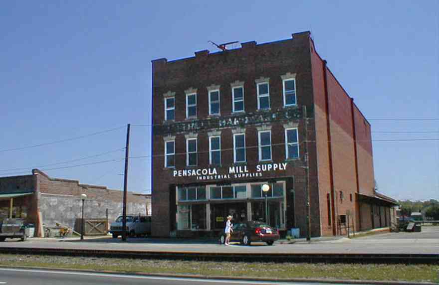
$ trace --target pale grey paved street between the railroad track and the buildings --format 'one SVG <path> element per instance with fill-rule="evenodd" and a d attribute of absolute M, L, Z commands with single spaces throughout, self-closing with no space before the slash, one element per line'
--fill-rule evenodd
<path fill-rule="evenodd" d="M 363 238 L 297 242 L 273 246 L 265 243 L 252 243 L 240 246 L 232 243 L 226 247 L 214 241 L 180 240 L 180 239 L 121 239 L 98 238 L 79 241 L 75 239 L 28 239 L 6 240 L 0 247 L 23 248 L 64 248 L 94 250 L 129 250 L 152 252 L 195 252 L 195 253 L 334 253 L 334 254 L 439 254 L 439 227 L 423 227 L 421 233 L 388 233 Z"/>

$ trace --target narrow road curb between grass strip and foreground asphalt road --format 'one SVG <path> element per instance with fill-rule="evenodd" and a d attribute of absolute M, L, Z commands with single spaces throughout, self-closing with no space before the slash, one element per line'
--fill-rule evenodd
<path fill-rule="evenodd" d="M 437 285 L 431 282 L 408 282 L 408 281 L 373 281 L 373 280 L 345 280 L 345 279 L 268 279 L 268 278 L 246 278 L 246 277 L 224 277 L 224 276 L 204 276 L 204 275 L 181 275 L 181 274 L 159 274 L 159 273 L 126 273 L 117 271 L 95 271 L 95 270 L 80 270 L 80 269 L 59 269 L 59 268 L 44 268 L 44 267 L 27 267 L 27 266 L 0 266 L 0 269 L 23 269 L 23 270 L 46 270 L 55 272 L 78 272 L 78 273 L 101 273 L 108 275 L 131 275 L 131 276 L 145 276 L 145 277 L 169 277 L 169 278 L 185 278 L 185 279 L 206 279 L 206 280 L 233 280 L 233 281 L 263 281 L 263 282 L 296 282 L 296 283 L 325 283 L 325 284 L 358 284 L 358 285 Z"/>

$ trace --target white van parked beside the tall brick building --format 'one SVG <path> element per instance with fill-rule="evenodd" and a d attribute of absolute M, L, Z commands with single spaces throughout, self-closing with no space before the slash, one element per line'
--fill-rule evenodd
<path fill-rule="evenodd" d="M 110 233 L 113 238 L 122 235 L 122 216 L 110 225 Z M 151 234 L 151 216 L 127 215 L 127 235 L 140 237 Z"/>

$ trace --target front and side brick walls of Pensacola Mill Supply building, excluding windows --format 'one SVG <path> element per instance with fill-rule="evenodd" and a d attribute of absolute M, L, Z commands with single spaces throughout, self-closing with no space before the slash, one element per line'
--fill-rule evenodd
<path fill-rule="evenodd" d="M 192 58 L 175 61 L 162 58 L 152 63 L 153 235 L 170 236 L 177 231 L 178 207 L 187 204 L 179 201 L 176 193 L 179 186 L 210 189 L 222 184 L 247 183 L 248 191 L 251 183 L 270 181 L 284 181 L 286 221 L 282 224 L 283 230 L 299 228 L 302 236 L 306 234 L 307 184 L 312 236 L 341 234 L 339 218 L 346 212 L 350 212 L 354 227 L 360 229 L 356 194 L 369 195 L 373 189 L 370 183 L 374 180 L 370 125 L 315 51 L 309 32 L 293 34 L 288 40 L 259 45 L 246 42 L 238 49 L 212 54 L 200 51 Z M 288 107 L 284 107 L 285 76 L 295 79 L 297 101 Z M 268 82 L 268 110 L 258 109 L 259 82 Z M 232 88 L 238 85 L 243 86 L 245 111 L 239 114 L 234 113 L 232 107 Z M 212 88 L 219 90 L 219 117 L 209 115 L 209 90 Z M 187 119 L 187 94 L 194 93 L 196 117 Z M 165 100 L 169 97 L 175 98 L 174 120 L 165 118 Z M 297 128 L 298 132 L 299 155 L 294 159 L 286 159 L 287 125 Z M 216 168 L 219 174 L 227 174 L 233 166 L 255 169 L 265 163 L 258 158 L 260 128 L 270 130 L 272 156 L 269 163 L 287 163 L 286 169 L 266 171 L 257 177 L 206 180 L 200 180 L 199 175 L 179 177 L 175 174 L 174 171 L 203 168 Z M 361 131 L 358 135 L 361 142 L 354 140 L 356 129 Z M 220 165 L 211 165 L 209 160 L 209 134 L 213 131 L 220 136 Z M 233 134 L 236 132 L 245 134 L 245 163 L 233 160 Z M 196 166 L 187 166 L 188 136 L 197 139 Z M 175 168 L 165 167 L 167 140 L 175 142 Z M 250 196 L 241 201 L 248 205 L 246 217 L 250 216 L 248 209 L 253 207 L 250 204 L 254 201 Z M 208 198 L 202 204 L 211 209 L 219 202 L 230 201 Z M 215 218 L 220 220 L 212 214 L 209 217 L 209 210 L 207 212 L 204 215 L 210 226 Z"/>

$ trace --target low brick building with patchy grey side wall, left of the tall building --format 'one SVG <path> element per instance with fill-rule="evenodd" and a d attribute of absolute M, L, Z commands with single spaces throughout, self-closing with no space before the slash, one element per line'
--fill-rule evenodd
<path fill-rule="evenodd" d="M 23 217 L 36 225 L 37 236 L 42 235 L 42 224 L 61 223 L 79 229 L 75 223 L 81 218 L 82 193 L 87 195 L 85 219 L 106 219 L 108 213 L 112 222 L 122 214 L 122 191 L 51 178 L 33 169 L 31 175 L 0 177 L 0 220 Z M 128 214 L 151 215 L 151 195 L 128 192 L 127 198 Z"/>

